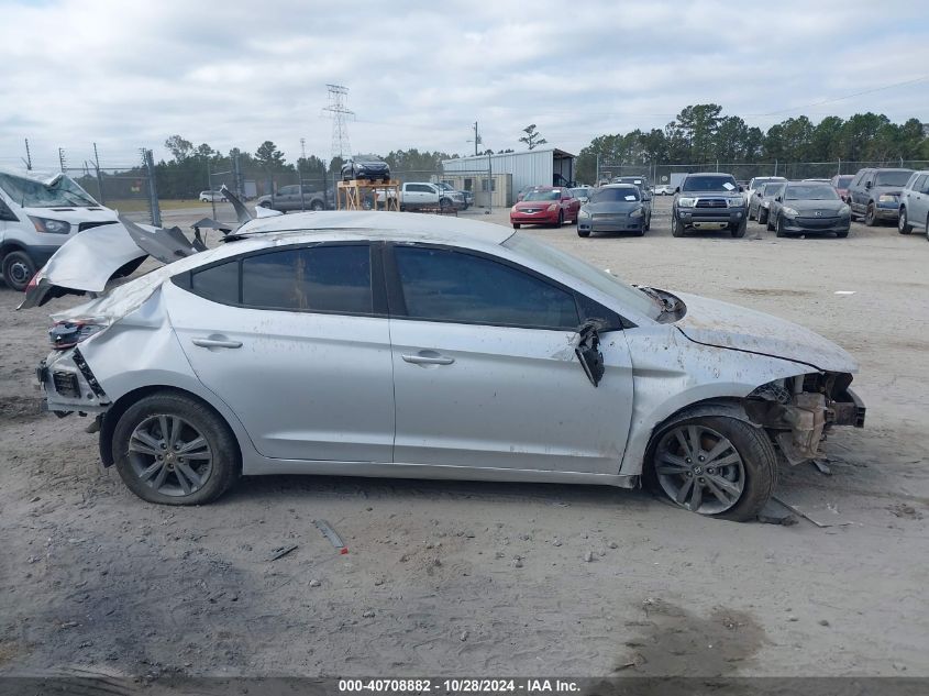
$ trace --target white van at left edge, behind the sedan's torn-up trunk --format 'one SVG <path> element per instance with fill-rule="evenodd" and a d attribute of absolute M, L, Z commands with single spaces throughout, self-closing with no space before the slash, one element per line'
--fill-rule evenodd
<path fill-rule="evenodd" d="M 9 288 L 24 290 L 75 234 L 118 222 L 64 174 L 0 168 L 0 275 Z"/>

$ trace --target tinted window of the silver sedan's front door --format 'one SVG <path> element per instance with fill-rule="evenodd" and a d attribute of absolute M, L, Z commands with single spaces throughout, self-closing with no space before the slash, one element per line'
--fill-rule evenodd
<path fill-rule="evenodd" d="M 576 329 L 574 296 L 533 275 L 482 256 L 397 246 L 407 316 L 456 323 Z"/>

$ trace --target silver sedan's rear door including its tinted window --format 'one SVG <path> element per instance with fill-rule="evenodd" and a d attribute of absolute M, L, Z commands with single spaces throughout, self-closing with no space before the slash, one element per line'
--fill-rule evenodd
<path fill-rule="evenodd" d="M 264 456 L 390 461 L 390 338 L 371 267 L 367 244 L 287 247 L 165 286 L 193 372 Z"/>

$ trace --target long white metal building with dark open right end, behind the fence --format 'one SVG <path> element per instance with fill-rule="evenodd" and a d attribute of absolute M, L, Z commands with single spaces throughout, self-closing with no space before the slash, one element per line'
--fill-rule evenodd
<path fill-rule="evenodd" d="M 574 161 L 571 153 L 556 147 L 528 150 L 497 155 L 477 155 L 457 157 L 442 162 L 446 175 L 455 172 L 477 172 L 490 169 L 491 175 L 509 174 L 512 176 L 512 196 L 527 186 L 566 186 L 574 181 Z M 505 205 L 511 206 L 512 200 Z"/>

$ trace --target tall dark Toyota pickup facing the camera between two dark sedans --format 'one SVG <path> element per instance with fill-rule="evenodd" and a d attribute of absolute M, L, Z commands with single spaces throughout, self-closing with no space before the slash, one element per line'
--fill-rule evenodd
<path fill-rule="evenodd" d="M 689 230 L 729 230 L 732 236 L 745 236 L 748 210 L 743 190 L 731 174 L 688 174 L 675 190 L 671 233 L 682 236 Z"/>

